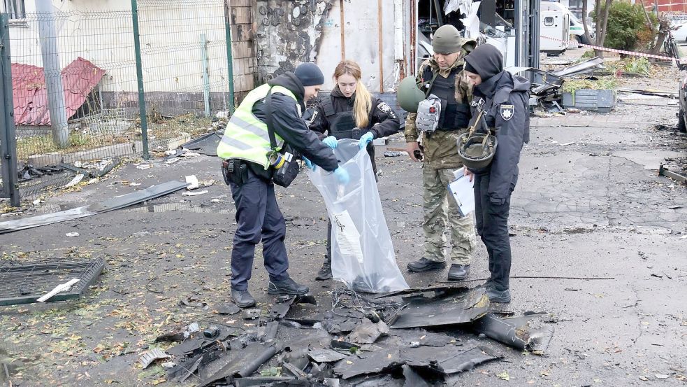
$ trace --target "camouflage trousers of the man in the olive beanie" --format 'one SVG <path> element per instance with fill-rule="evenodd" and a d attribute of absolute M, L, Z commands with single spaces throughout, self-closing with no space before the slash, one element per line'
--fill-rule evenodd
<path fill-rule="evenodd" d="M 428 167 L 427 164 L 422 168 L 424 258 L 437 262 L 446 260 L 447 238 L 444 231 L 448 224 L 451 231 L 451 262 L 449 263 L 470 265 L 472 251 L 475 250 L 475 226 L 472 213 L 461 216 L 458 212 L 458 204 L 453 197 L 449 197 L 448 185 L 455 180 L 453 174 L 455 169 L 434 169 Z"/>

